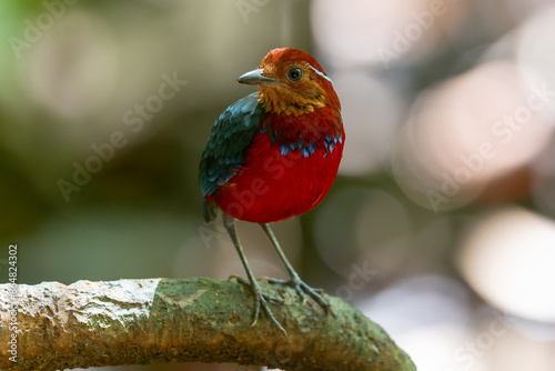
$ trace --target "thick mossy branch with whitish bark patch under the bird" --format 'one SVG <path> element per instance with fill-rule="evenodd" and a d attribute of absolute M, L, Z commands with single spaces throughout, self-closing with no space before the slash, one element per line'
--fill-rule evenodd
<path fill-rule="evenodd" d="M 191 278 L 0 284 L 0 369 L 200 361 L 282 370 L 416 370 L 351 304 L 325 295 L 332 304 L 326 313 L 312 301 L 301 304 L 291 288 L 261 287 L 283 299 L 271 307 L 286 335 L 262 312 L 251 325 L 253 297 L 236 282 Z M 14 298 L 17 323 L 10 313 Z"/>

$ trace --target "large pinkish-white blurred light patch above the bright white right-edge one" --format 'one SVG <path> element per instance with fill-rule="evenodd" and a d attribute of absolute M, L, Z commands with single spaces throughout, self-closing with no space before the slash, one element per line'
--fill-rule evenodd
<path fill-rule="evenodd" d="M 393 164 L 400 184 L 417 190 L 415 201 L 434 210 L 471 202 L 548 144 L 553 126 L 536 112 L 549 98 L 518 72 L 507 62 L 485 63 L 415 103 Z"/>

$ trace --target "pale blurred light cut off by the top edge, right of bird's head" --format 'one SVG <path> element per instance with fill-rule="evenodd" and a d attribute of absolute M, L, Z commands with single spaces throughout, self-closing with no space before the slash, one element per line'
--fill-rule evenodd
<path fill-rule="evenodd" d="M 314 41 L 334 64 L 386 67 L 428 57 L 465 18 L 455 1 L 349 0 L 312 3 Z"/>

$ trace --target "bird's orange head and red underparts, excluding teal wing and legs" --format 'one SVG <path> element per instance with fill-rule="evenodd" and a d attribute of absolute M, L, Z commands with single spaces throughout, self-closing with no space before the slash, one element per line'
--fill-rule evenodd
<path fill-rule="evenodd" d="M 343 153 L 345 133 L 332 80 L 313 57 L 291 48 L 272 50 L 259 70 L 243 77 L 240 82 L 261 87 L 263 114 L 240 166 L 231 167 L 226 179 L 220 177 L 206 200 L 235 219 L 258 223 L 302 214 L 326 195 Z"/>

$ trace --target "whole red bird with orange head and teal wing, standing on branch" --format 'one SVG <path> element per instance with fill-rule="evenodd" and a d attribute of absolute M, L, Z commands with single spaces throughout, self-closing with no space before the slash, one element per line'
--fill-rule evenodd
<path fill-rule="evenodd" d="M 290 279 L 269 283 L 294 288 L 303 303 L 312 298 L 323 309 L 322 290 L 306 284 L 283 252 L 271 223 L 315 208 L 330 191 L 343 156 L 345 131 L 341 103 L 332 79 L 309 53 L 294 48 L 271 50 L 258 69 L 238 78 L 258 86 L 215 120 L 200 161 L 199 184 L 206 222 L 222 217 L 254 295 L 252 325 L 263 312 L 275 327 L 270 302 L 262 292 L 239 240 L 235 221 L 259 223 L 285 265 Z"/>

